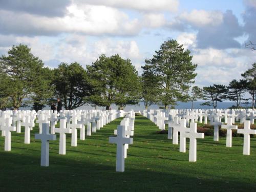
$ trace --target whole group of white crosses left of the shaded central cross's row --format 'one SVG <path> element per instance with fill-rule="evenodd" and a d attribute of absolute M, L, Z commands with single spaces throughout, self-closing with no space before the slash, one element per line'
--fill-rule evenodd
<path fill-rule="evenodd" d="M 89 115 L 90 114 L 90 115 Z M 30 131 L 33 130 L 35 126 L 35 119 L 37 117 L 36 122 L 39 126 L 39 134 L 36 135 L 36 138 L 43 138 L 43 135 L 49 135 L 49 127 L 51 127 L 51 134 L 50 136 L 54 136 L 55 132 L 60 134 L 60 142 L 59 142 L 59 154 L 65 155 L 66 154 L 66 134 L 72 133 L 72 146 L 76 146 L 77 144 L 77 130 L 81 129 L 80 132 L 80 139 L 84 140 L 85 138 L 85 127 L 84 125 L 87 124 L 88 117 L 97 118 L 98 126 L 102 127 L 106 123 L 110 122 L 110 120 L 114 120 L 117 117 L 123 115 L 123 111 L 111 110 L 111 111 L 101 111 L 101 110 L 94 110 L 94 111 L 84 111 L 84 110 L 73 110 L 73 111 L 64 111 L 60 114 L 56 112 L 53 113 L 52 111 L 45 110 L 39 111 L 36 113 L 35 111 L 0 111 L 0 130 L 2 131 L 2 136 L 5 136 L 5 151 L 11 151 L 11 132 L 16 131 L 17 133 L 21 133 L 21 126 L 25 127 L 25 137 L 24 143 L 30 144 Z M 111 116 L 111 117 L 109 117 Z M 108 118 L 108 120 L 106 120 Z M 69 123 L 67 123 L 67 119 Z M 72 119 L 72 123 L 71 123 Z M 78 121 L 79 119 L 79 121 Z M 60 121 L 60 127 L 55 127 L 57 121 Z M 90 120 L 89 120 L 90 121 Z M 45 127 L 45 130 L 42 130 L 42 127 Z M 72 131 L 71 131 L 72 130 Z M 91 135 L 91 134 L 90 134 Z M 56 136 L 55 136 L 56 137 Z M 47 147 L 47 139 L 44 140 L 44 147 L 42 147 L 42 153 L 48 153 L 49 147 Z M 46 144 L 45 144 L 46 142 Z M 48 148 L 48 150 L 46 149 Z M 42 166 L 48 166 L 49 160 L 47 163 L 48 158 L 45 154 L 42 156 Z"/>

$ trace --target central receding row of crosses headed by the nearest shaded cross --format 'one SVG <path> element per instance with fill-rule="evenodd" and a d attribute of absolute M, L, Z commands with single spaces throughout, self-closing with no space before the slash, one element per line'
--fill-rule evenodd
<path fill-rule="evenodd" d="M 117 137 L 109 138 L 110 143 L 117 144 L 116 172 L 124 172 L 124 159 L 127 157 L 127 149 L 129 144 L 133 144 L 133 138 L 130 137 L 134 135 L 134 121 L 135 113 L 130 111 L 117 126 L 117 130 L 114 130 L 114 135 L 117 135 Z"/>

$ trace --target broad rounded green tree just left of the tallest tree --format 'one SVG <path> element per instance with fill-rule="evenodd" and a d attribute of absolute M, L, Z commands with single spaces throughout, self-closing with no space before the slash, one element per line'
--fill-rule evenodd
<path fill-rule="evenodd" d="M 87 70 L 93 85 L 90 103 L 109 110 L 113 103 L 123 109 L 127 104 L 139 102 L 140 79 L 130 59 L 122 59 L 118 54 L 111 57 L 101 55 L 92 66 L 87 66 Z"/>

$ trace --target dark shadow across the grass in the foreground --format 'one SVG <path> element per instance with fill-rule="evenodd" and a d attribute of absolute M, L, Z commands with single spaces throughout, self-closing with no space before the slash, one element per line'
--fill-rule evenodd
<path fill-rule="evenodd" d="M 126 168 L 115 172 L 112 165 L 50 157 L 49 167 L 39 166 L 39 157 L 0 153 L 1 191 L 255 191 L 250 183 L 230 178 L 205 179 L 177 167 L 175 173 Z M 17 156 L 17 155 L 15 155 Z M 176 160 L 168 158 L 168 160 Z M 54 162 L 53 162 L 54 161 Z M 4 162 L 4 163 L 3 163 Z M 22 162 L 27 162 L 20 166 Z M 14 175 L 13 175 L 13 174 Z"/>

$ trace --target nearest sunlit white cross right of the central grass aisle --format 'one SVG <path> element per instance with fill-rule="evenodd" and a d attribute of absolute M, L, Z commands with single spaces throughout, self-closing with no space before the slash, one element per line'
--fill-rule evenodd
<path fill-rule="evenodd" d="M 188 161 L 197 161 L 197 139 L 203 139 L 203 133 L 197 133 L 197 123 L 190 123 L 189 132 L 184 133 L 184 136 L 189 138 L 189 157 Z"/>

